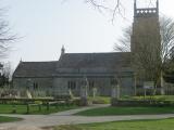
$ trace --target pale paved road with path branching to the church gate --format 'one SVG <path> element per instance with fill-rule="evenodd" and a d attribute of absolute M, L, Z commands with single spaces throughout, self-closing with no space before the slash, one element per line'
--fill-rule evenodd
<path fill-rule="evenodd" d="M 104 107 L 90 106 L 78 109 L 72 109 L 67 112 L 51 114 L 51 115 L 3 115 L 22 117 L 24 120 L 17 122 L 0 123 L 0 130 L 40 130 L 41 127 L 57 126 L 57 125 L 74 125 L 74 123 L 89 123 L 89 122 L 103 122 L 103 121 L 117 121 L 117 120 L 133 120 L 133 119 L 161 119 L 174 117 L 174 114 L 162 114 L 162 115 L 130 115 L 130 116 L 97 116 L 97 117 L 85 117 L 74 116 L 72 114 L 94 108 Z"/>

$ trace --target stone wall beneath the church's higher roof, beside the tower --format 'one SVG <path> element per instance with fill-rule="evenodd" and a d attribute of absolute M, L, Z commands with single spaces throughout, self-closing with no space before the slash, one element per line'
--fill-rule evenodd
<path fill-rule="evenodd" d="M 54 95 L 70 94 L 80 95 L 80 88 L 84 78 L 55 78 L 53 80 Z M 88 78 L 88 94 L 92 95 L 94 88 L 97 90 L 97 95 L 111 95 L 111 78 L 109 77 L 91 77 Z M 134 77 L 122 77 L 120 80 L 121 95 L 134 95 Z"/>

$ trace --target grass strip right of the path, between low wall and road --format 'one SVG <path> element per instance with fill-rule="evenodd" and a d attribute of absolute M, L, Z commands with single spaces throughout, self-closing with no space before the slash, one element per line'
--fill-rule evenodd
<path fill-rule="evenodd" d="M 75 115 L 80 116 L 111 116 L 111 115 L 146 115 L 146 114 L 174 114 L 174 107 L 101 107 Z"/>

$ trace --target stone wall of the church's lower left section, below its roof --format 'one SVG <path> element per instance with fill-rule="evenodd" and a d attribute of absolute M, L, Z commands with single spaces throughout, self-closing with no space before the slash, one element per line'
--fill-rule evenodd
<path fill-rule="evenodd" d="M 13 88 L 24 95 L 28 90 L 33 96 L 52 95 L 52 78 L 13 78 Z"/>

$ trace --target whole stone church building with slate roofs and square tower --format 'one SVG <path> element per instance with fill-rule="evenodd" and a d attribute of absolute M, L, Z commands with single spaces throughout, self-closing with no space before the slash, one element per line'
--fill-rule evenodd
<path fill-rule="evenodd" d="M 150 34 L 145 36 L 144 30 L 137 34 L 137 29 L 147 22 L 159 26 L 158 1 L 157 8 L 137 9 L 136 1 L 134 6 L 132 51 L 138 44 L 137 37 L 153 38 Z M 35 95 L 66 95 L 70 90 L 74 95 L 80 95 L 83 82 L 87 80 L 89 94 L 96 88 L 97 94 L 111 95 L 112 87 L 119 84 L 121 95 L 134 95 L 136 80 L 130 53 L 66 53 L 62 48 L 59 61 L 21 61 L 13 74 L 13 88 L 29 90 Z"/>

